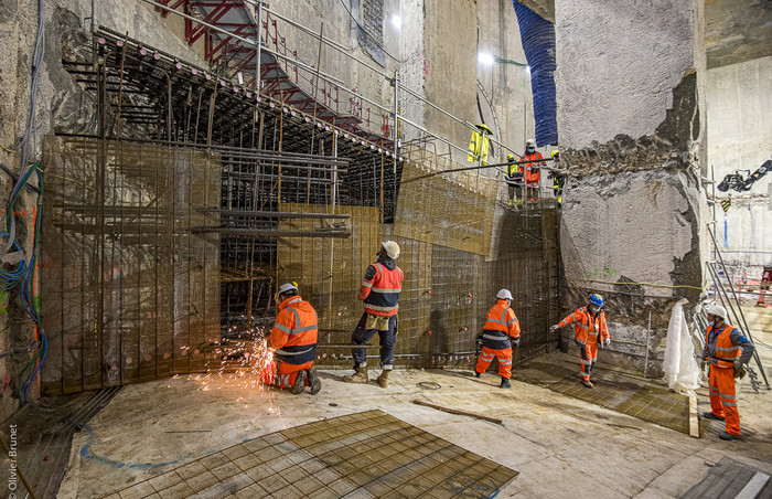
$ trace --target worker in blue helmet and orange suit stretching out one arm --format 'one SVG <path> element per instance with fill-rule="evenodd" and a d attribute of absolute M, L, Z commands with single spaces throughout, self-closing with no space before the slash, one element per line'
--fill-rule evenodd
<path fill-rule="evenodd" d="M 598 360 L 598 347 L 609 347 L 611 337 L 605 325 L 605 312 L 602 309 L 603 297 L 597 293 L 590 295 L 587 307 L 579 307 L 573 314 L 567 316 L 560 322 L 550 328 L 557 331 L 569 323 L 576 323 L 573 328 L 573 342 L 579 346 L 581 357 L 581 383 L 588 389 L 593 387 L 590 375 Z"/>

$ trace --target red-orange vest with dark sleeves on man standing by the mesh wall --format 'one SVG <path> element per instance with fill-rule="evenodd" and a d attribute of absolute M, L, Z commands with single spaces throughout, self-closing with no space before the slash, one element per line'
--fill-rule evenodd
<path fill-rule="evenodd" d="M 374 316 L 396 316 L 399 311 L 399 294 L 403 290 L 403 269 L 394 258 L 383 257 L 371 264 L 360 286 L 358 299 L 364 301 L 365 312 Z"/>

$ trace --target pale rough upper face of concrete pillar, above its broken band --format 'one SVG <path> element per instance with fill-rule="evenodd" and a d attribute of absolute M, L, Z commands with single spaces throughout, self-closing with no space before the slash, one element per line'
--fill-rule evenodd
<path fill-rule="evenodd" d="M 699 3 L 555 2 L 561 146 L 652 134 L 704 46 L 695 38 L 703 22 Z"/>

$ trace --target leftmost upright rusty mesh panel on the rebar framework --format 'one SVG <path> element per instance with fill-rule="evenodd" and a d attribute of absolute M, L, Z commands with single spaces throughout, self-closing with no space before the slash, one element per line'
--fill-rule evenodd
<path fill-rule="evenodd" d="M 217 155 L 47 137 L 47 394 L 201 370 L 219 338 Z M 215 267 L 216 268 L 216 267 Z M 215 291 L 215 293 L 213 293 Z"/>

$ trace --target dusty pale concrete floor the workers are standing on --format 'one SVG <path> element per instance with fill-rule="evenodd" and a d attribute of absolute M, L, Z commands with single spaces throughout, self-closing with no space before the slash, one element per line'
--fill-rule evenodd
<path fill-rule="evenodd" d="M 772 343 L 772 333 L 764 340 Z M 244 387 L 248 380 L 227 374 L 127 386 L 75 435 L 58 497 L 106 497 L 245 439 L 375 408 L 519 471 L 497 497 L 573 497 L 580 490 L 602 498 L 678 497 L 725 456 L 772 474 L 766 390 L 754 394 L 743 386 L 740 414 L 751 437 L 723 442 L 716 423 L 696 439 L 533 384 L 513 381 L 512 390 L 501 390 L 492 374 L 475 380 L 468 371 L 395 371 L 387 390 L 345 384 L 341 374 L 322 372 L 317 396 Z M 416 399 L 495 416 L 503 425 L 418 406 Z M 703 411 L 704 389 L 699 400 Z"/>

